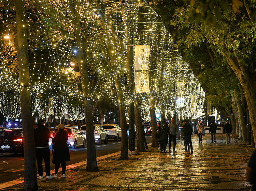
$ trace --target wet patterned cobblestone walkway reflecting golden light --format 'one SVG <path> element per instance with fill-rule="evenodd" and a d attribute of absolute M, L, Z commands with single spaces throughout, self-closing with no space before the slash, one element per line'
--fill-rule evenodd
<path fill-rule="evenodd" d="M 210 135 L 198 143 L 192 137 L 193 154 L 182 154 L 183 140 L 177 140 L 176 154 L 162 154 L 156 148 L 119 161 L 119 155 L 98 161 L 99 172 L 86 172 L 79 166 L 66 172 L 66 178 L 38 180 L 39 190 L 250 190 L 245 167 L 253 148 L 231 135 Z M 5 190 L 22 190 L 23 184 Z"/>

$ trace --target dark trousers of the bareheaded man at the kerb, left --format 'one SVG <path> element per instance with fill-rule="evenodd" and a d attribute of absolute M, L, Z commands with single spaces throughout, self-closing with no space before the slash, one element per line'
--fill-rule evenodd
<path fill-rule="evenodd" d="M 45 173 L 49 176 L 50 173 L 50 149 L 45 148 L 35 148 L 35 157 L 37 158 L 37 169 L 39 176 L 43 176 L 43 159 L 45 163 Z"/>

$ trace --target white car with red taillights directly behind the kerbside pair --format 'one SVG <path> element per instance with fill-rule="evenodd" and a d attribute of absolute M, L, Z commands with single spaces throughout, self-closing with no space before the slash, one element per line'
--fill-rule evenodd
<path fill-rule="evenodd" d="M 86 139 L 76 127 L 65 127 L 64 130 L 68 132 L 67 144 L 69 147 L 72 147 L 72 149 L 76 149 L 77 146 L 85 147 Z M 49 146 L 53 146 L 52 138 L 55 137 L 56 133 L 57 129 L 53 131 L 51 138 L 49 138 Z"/>

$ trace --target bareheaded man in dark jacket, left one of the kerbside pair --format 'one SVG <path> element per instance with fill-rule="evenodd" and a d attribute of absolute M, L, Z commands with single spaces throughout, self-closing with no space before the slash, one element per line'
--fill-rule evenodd
<path fill-rule="evenodd" d="M 48 145 L 50 131 L 44 126 L 44 120 L 42 119 L 38 120 L 38 127 L 34 129 L 34 138 L 39 179 L 43 179 L 43 159 L 45 163 L 46 179 L 52 179 L 53 176 L 50 173 L 50 149 Z"/>

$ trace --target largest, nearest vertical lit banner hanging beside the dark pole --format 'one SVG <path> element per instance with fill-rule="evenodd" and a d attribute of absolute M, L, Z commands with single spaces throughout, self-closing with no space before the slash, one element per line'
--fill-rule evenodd
<path fill-rule="evenodd" d="M 149 93 L 149 45 L 135 45 L 134 80 L 136 93 Z"/>

